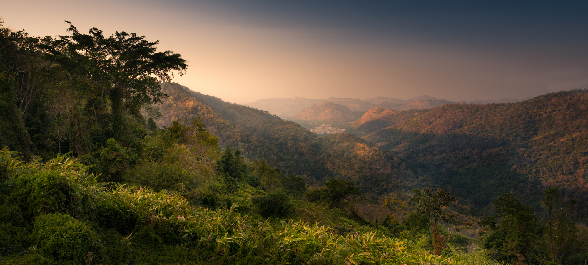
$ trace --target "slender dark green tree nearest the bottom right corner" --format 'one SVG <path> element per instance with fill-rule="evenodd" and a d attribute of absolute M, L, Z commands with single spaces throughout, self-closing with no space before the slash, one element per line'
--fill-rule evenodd
<path fill-rule="evenodd" d="M 547 207 L 547 241 L 552 254 L 552 261 L 555 262 L 560 254 L 572 247 L 571 244 L 577 238 L 578 228 L 576 227 L 576 206 L 577 199 L 564 203 L 564 198 L 557 187 L 545 191 L 545 198 L 541 201 Z"/>

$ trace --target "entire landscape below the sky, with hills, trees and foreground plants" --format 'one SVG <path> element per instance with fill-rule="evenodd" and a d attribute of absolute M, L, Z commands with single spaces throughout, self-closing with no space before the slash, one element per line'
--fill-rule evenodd
<path fill-rule="evenodd" d="M 157 41 L 66 23 L 0 19 L 2 264 L 588 257 L 588 89 L 245 106 L 175 83 Z"/>

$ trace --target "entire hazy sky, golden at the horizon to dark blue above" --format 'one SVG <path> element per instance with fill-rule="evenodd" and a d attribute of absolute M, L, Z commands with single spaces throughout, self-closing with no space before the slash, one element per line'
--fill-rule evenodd
<path fill-rule="evenodd" d="M 269 97 L 524 98 L 588 84 L 588 1 L 5 1 L 31 35 L 118 31 L 188 60 L 174 81 Z"/>

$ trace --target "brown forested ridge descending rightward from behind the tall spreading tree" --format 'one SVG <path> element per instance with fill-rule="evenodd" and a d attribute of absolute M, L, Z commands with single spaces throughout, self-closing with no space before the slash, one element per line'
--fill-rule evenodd
<path fill-rule="evenodd" d="M 168 98 L 161 106 L 161 125 L 172 120 L 191 123 L 202 117 L 220 145 L 243 151 L 250 159 L 265 159 L 285 174 L 306 175 L 316 181 L 352 179 L 365 191 L 382 193 L 408 185 L 413 173 L 389 152 L 352 134 L 318 135 L 292 121 L 255 108 L 228 103 L 186 89 L 163 84 Z"/>

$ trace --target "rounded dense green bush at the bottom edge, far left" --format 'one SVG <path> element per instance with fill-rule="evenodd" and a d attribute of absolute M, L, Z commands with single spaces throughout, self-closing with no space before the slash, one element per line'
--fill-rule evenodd
<path fill-rule="evenodd" d="M 82 264 L 98 250 L 98 235 L 86 223 L 69 215 L 41 215 L 33 223 L 32 236 L 41 253 L 63 264 Z"/>

